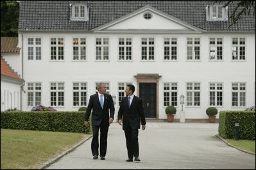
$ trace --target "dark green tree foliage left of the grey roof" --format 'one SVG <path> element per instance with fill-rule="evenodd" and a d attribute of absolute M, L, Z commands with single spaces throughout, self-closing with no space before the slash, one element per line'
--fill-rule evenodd
<path fill-rule="evenodd" d="M 18 36 L 19 3 L 1 1 L 1 37 Z"/>

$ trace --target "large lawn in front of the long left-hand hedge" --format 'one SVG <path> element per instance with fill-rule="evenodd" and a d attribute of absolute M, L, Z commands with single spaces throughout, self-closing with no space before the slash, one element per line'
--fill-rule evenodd
<path fill-rule="evenodd" d="M 1 169 L 37 169 L 88 134 L 1 129 Z"/>

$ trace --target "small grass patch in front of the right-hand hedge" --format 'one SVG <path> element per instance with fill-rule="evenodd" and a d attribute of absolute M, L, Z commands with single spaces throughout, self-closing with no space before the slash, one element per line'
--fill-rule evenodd
<path fill-rule="evenodd" d="M 255 141 L 250 140 L 234 140 L 234 139 L 225 139 L 228 143 L 240 148 L 242 150 L 252 151 L 255 153 Z"/>

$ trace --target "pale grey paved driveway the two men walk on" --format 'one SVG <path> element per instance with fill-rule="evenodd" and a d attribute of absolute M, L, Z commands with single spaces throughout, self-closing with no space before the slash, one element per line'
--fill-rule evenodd
<path fill-rule="evenodd" d="M 223 143 L 218 123 L 153 123 L 139 130 L 141 162 L 128 158 L 118 123 L 108 131 L 106 160 L 93 160 L 91 139 L 47 169 L 255 169 L 255 155 Z"/>

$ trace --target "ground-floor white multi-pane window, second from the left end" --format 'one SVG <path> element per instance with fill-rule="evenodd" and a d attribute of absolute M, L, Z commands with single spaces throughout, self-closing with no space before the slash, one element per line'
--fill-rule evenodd
<path fill-rule="evenodd" d="M 64 106 L 64 82 L 51 82 L 51 106 Z"/>

